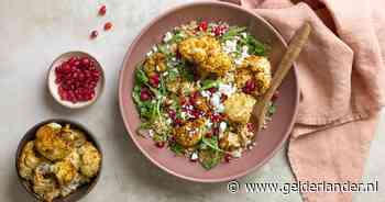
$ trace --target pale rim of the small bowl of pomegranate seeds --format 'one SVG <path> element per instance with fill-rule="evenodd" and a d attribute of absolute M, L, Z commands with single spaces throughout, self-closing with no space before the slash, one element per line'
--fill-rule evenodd
<path fill-rule="evenodd" d="M 64 56 L 69 55 L 69 54 L 74 54 L 74 55 L 86 55 L 87 57 L 91 58 L 91 59 L 97 64 L 97 66 L 98 66 L 99 69 L 100 69 L 100 72 L 101 72 L 101 78 L 100 78 L 100 80 L 98 81 L 98 83 L 100 85 L 100 87 L 99 87 L 99 88 L 100 88 L 100 89 L 99 89 L 99 92 L 97 93 L 97 96 L 96 96 L 92 100 L 87 101 L 87 102 L 86 102 L 85 104 L 82 104 L 82 105 L 74 105 L 74 104 L 69 103 L 68 101 L 62 101 L 62 100 L 59 100 L 58 98 L 56 98 L 56 97 L 54 96 L 55 92 L 53 92 L 53 88 L 55 88 L 55 87 L 52 87 L 53 83 L 50 82 L 51 72 L 54 70 L 54 68 L 56 68 L 55 64 L 56 64 L 59 59 L 62 59 Z M 103 69 L 103 67 L 101 66 L 101 64 L 99 63 L 99 60 L 98 60 L 96 57 L 94 57 L 91 54 L 87 53 L 87 52 L 82 52 L 82 50 L 69 50 L 69 52 L 65 52 L 65 53 L 58 55 L 58 56 L 51 63 L 50 68 L 48 68 L 48 70 L 47 70 L 46 74 L 47 74 L 47 75 L 46 75 L 46 82 L 47 82 L 47 88 L 48 88 L 48 91 L 50 91 L 51 97 L 52 97 L 57 103 L 59 103 L 61 105 L 63 105 L 63 106 L 65 106 L 65 108 L 67 108 L 67 109 L 76 110 L 76 109 L 84 109 L 84 108 L 90 106 L 90 105 L 95 104 L 95 103 L 99 100 L 99 98 L 101 97 L 102 92 L 105 91 L 105 86 L 106 86 L 105 69 Z M 68 102 L 68 103 L 67 103 L 67 102 Z"/>

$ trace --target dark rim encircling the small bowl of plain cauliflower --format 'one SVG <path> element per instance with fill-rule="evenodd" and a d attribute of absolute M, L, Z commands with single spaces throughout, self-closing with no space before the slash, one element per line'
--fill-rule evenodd
<path fill-rule="evenodd" d="M 25 190 L 31 197 L 33 197 L 35 200 L 37 201 L 42 201 L 41 197 L 37 195 L 35 192 L 33 192 L 31 189 L 28 189 L 26 188 L 26 184 L 23 183 L 23 182 L 26 182 L 26 180 L 24 178 L 22 178 L 20 176 L 20 172 L 19 172 L 19 158 L 20 158 L 20 155 L 21 155 L 21 152 L 22 149 L 24 148 L 25 144 L 28 143 L 28 134 L 32 133 L 32 132 L 36 132 L 37 128 L 40 126 L 43 126 L 45 124 L 48 124 L 48 123 L 68 123 L 70 125 L 75 125 L 75 127 L 81 130 L 82 132 L 86 133 L 86 137 L 87 139 L 91 141 L 92 144 L 95 145 L 95 147 L 99 150 L 100 153 L 100 168 L 99 168 L 99 171 L 98 173 L 92 177 L 92 180 L 91 182 L 88 184 L 87 189 L 85 190 L 85 192 L 82 194 L 80 194 L 77 199 L 75 199 L 75 201 L 72 201 L 72 202 L 76 202 L 76 201 L 79 201 L 81 200 L 84 197 L 86 197 L 88 193 L 90 193 L 92 191 L 92 189 L 96 187 L 96 184 L 99 182 L 99 179 L 100 179 L 100 176 L 101 176 L 101 171 L 102 171 L 102 168 L 103 168 L 103 150 L 99 144 L 99 141 L 98 138 L 81 123 L 77 122 L 77 121 L 72 121 L 72 120 L 67 120 L 67 119 L 62 119 L 62 117 L 57 117 L 57 119 L 48 119 L 48 120 L 45 120 L 45 121 L 42 121 L 42 122 L 38 122 L 37 124 L 34 124 L 33 126 L 31 126 L 26 132 L 25 134 L 21 137 L 21 139 L 19 141 L 19 144 L 18 144 L 18 148 L 16 148 L 16 152 L 15 152 L 15 171 L 16 171 L 16 176 L 18 176 L 18 181 L 19 183 L 21 184 L 21 187 L 23 187 L 23 190 Z M 76 190 L 75 190 L 76 192 Z M 73 192 L 73 193 L 75 193 Z M 73 193 L 66 195 L 66 197 L 61 197 L 58 198 L 59 200 L 66 200 L 69 195 L 72 195 Z M 55 199 L 53 200 L 53 202 L 55 202 Z"/>

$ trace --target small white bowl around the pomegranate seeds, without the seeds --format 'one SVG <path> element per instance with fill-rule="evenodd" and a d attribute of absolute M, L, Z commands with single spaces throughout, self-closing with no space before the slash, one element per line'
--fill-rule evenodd
<path fill-rule="evenodd" d="M 97 87 L 95 88 L 95 97 L 92 100 L 85 101 L 85 102 L 76 102 L 73 103 L 70 101 L 62 100 L 61 96 L 58 94 L 58 85 L 55 82 L 56 80 L 56 75 L 55 75 L 55 69 L 58 67 L 64 61 L 68 60 L 70 57 L 88 57 L 95 63 L 95 67 L 100 70 L 100 79 L 97 83 Z M 88 105 L 91 105 L 95 103 L 100 94 L 102 93 L 105 89 L 105 71 L 99 61 L 92 57 L 91 55 L 84 53 L 84 52 L 68 52 L 65 54 L 62 54 L 58 56 L 51 65 L 50 70 L 48 70 L 48 77 L 47 77 L 47 83 L 48 83 L 48 89 L 51 96 L 62 105 L 69 108 L 69 109 L 80 109 L 85 108 Z"/>

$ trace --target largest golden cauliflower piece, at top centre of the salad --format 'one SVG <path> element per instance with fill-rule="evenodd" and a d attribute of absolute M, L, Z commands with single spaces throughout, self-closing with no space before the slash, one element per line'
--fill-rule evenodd
<path fill-rule="evenodd" d="M 188 61 L 198 66 L 201 76 L 223 76 L 232 66 L 231 57 L 222 52 L 220 43 L 212 36 L 189 37 L 178 44 L 178 52 Z"/>

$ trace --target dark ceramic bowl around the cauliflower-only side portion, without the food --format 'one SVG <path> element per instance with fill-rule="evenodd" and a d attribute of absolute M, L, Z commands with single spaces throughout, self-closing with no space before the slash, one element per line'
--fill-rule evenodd
<path fill-rule="evenodd" d="M 96 147 L 97 149 L 99 150 L 100 155 L 101 155 L 101 162 L 100 162 L 100 169 L 99 169 L 99 172 L 96 177 L 94 177 L 91 179 L 91 181 L 87 184 L 84 184 L 81 187 L 79 187 L 75 192 L 70 193 L 69 195 L 65 197 L 65 198 L 57 198 L 55 199 L 53 202 L 76 202 L 76 201 L 79 201 L 82 197 L 87 195 L 91 190 L 92 188 L 97 184 L 98 180 L 99 180 L 99 177 L 100 177 L 100 173 L 101 173 L 101 169 L 102 169 L 102 157 L 103 157 L 103 154 L 102 154 L 102 150 L 101 150 L 101 147 L 98 143 L 98 141 L 96 139 L 96 137 L 91 134 L 90 131 L 88 131 L 84 125 L 77 123 L 77 122 L 74 122 L 74 121 L 69 121 L 69 120 L 63 120 L 63 119 L 53 119 L 53 120 L 47 120 L 47 121 L 44 121 L 44 122 L 41 122 L 38 124 L 36 124 L 35 126 L 33 126 L 31 130 L 29 130 L 25 135 L 23 136 L 23 138 L 20 141 L 19 143 L 19 146 L 18 146 L 18 150 L 16 150 L 16 159 L 15 159 L 15 167 L 16 167 L 16 173 L 18 173 L 18 177 L 19 177 L 19 181 L 21 182 L 22 187 L 26 190 L 26 192 L 29 192 L 36 201 L 42 201 L 43 202 L 43 199 L 41 197 L 38 197 L 32 189 L 31 189 L 31 186 L 30 186 L 30 182 L 26 181 L 24 178 L 22 178 L 20 175 L 19 175 L 19 165 L 18 165 L 18 161 L 19 161 L 19 157 L 21 155 L 21 152 L 22 149 L 24 148 L 25 144 L 32 139 L 35 138 L 35 134 L 36 134 L 36 131 L 38 130 L 38 127 L 47 124 L 47 123 L 52 123 L 52 122 L 55 122 L 55 123 L 58 123 L 61 125 L 65 125 L 65 124 L 70 124 L 72 127 L 74 128 L 77 128 L 77 130 L 80 130 L 82 132 L 85 132 L 86 136 L 87 136 L 87 141 L 91 142 Z"/>

